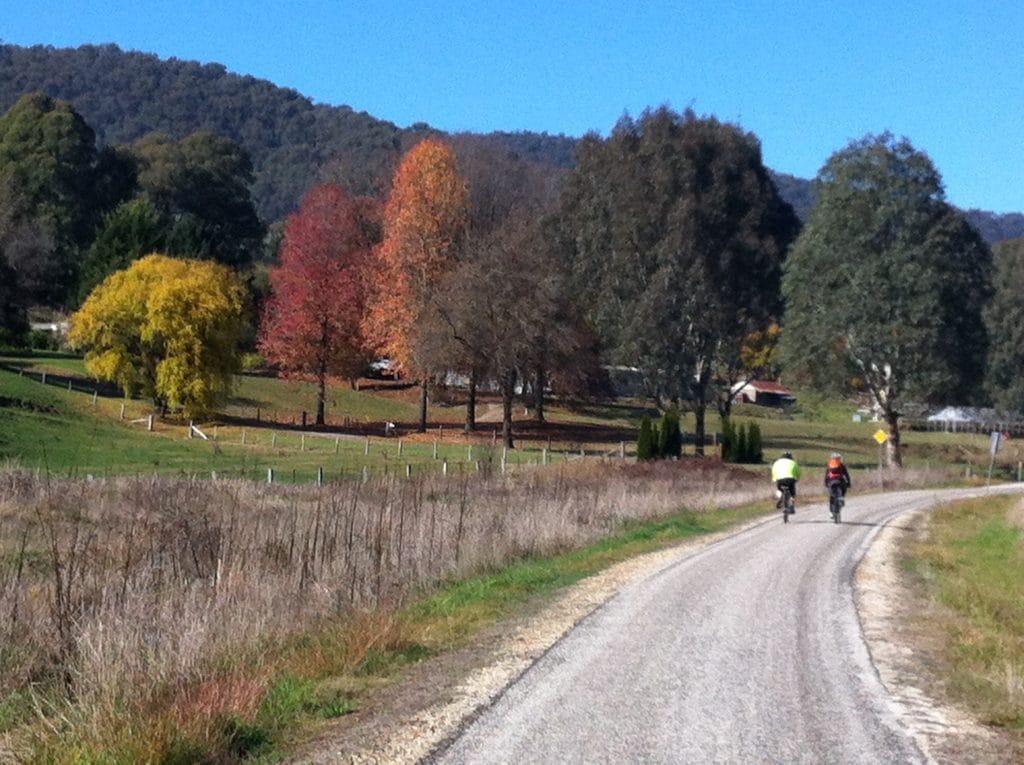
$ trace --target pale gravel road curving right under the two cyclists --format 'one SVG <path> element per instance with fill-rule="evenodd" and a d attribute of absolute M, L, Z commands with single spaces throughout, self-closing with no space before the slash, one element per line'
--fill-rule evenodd
<path fill-rule="evenodd" d="M 435 761 L 927 762 L 871 664 L 854 572 L 890 519 L 983 491 L 855 496 L 839 525 L 818 501 L 684 551 L 581 622 Z"/>

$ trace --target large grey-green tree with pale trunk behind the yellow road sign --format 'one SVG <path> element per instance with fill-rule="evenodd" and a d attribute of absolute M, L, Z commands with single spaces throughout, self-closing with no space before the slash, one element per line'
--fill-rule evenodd
<path fill-rule="evenodd" d="M 866 387 L 901 465 L 908 400 L 968 402 L 987 348 L 991 253 L 909 141 L 868 135 L 834 154 L 785 263 L 785 368 L 823 389 Z"/>

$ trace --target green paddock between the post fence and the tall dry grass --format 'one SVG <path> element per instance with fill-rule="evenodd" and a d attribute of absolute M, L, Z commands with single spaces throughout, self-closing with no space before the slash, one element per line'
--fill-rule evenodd
<path fill-rule="evenodd" d="M 390 403 L 385 399 L 371 407 Z M 435 448 L 430 435 L 417 441 L 303 433 L 266 423 L 258 428 L 202 423 L 208 439 L 188 438 L 184 422 L 159 423 L 155 432 L 147 432 L 146 423 L 139 422 L 147 409 L 142 401 L 94 399 L 84 391 L 41 385 L 38 379 L 0 370 L 0 460 L 57 475 L 216 473 L 264 480 L 272 469 L 278 480 L 308 482 L 316 479 L 321 469 L 326 480 L 358 475 L 364 469 L 440 471 L 445 462 L 451 471 L 476 470 L 478 462 L 481 469 L 498 470 L 503 457 L 500 447 L 486 442 L 471 447 L 440 440 Z M 505 456 L 512 465 L 545 460 L 540 445 L 512 450 Z M 551 454 L 547 459 L 566 458 Z"/>

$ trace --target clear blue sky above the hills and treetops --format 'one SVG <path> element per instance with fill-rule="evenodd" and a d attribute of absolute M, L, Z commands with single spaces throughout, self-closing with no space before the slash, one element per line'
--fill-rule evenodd
<path fill-rule="evenodd" d="M 668 103 L 735 122 L 813 177 L 890 130 L 950 202 L 1024 212 L 1024 3 L 11 0 L 0 39 L 113 42 L 346 103 L 400 126 L 608 132 Z"/>

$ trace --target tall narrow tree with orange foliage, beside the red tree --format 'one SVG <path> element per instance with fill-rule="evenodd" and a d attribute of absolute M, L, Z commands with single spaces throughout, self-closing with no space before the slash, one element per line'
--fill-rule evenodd
<path fill-rule="evenodd" d="M 431 359 L 417 347 L 417 330 L 432 310 L 441 278 L 465 237 L 469 195 L 453 148 L 425 138 L 395 171 L 384 208 L 384 238 L 364 330 L 371 345 L 406 374 L 420 377 L 420 430 L 427 427 Z"/>

